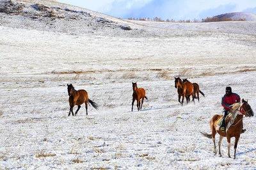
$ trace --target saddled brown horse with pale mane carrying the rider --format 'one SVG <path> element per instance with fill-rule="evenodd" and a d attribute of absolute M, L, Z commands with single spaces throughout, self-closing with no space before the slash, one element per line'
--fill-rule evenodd
<path fill-rule="evenodd" d="M 234 145 L 234 159 L 236 158 L 236 148 L 237 148 L 237 143 L 239 141 L 239 137 L 240 134 L 242 134 L 242 130 L 243 130 L 243 116 L 246 117 L 251 117 L 253 116 L 253 111 L 251 106 L 248 104 L 248 102 L 246 102 L 244 99 L 242 100 L 241 103 L 236 103 L 232 105 L 232 118 L 234 120 L 234 122 L 232 124 L 227 123 L 228 120 L 226 120 L 226 125 L 229 126 L 229 128 L 226 129 L 227 132 L 222 132 L 220 129 L 216 129 L 216 127 L 218 126 L 218 121 L 221 120 L 221 118 L 223 117 L 222 115 L 218 115 L 215 114 L 211 121 L 210 121 L 210 127 L 211 127 L 211 131 L 212 134 L 207 134 L 204 132 L 201 132 L 205 137 L 208 137 L 209 139 L 212 139 L 213 144 L 214 144 L 214 153 L 216 155 L 217 151 L 216 151 L 216 144 L 215 144 L 215 135 L 216 132 L 220 135 L 220 141 L 218 143 L 219 145 L 219 155 L 220 157 L 221 155 L 221 151 L 220 151 L 220 146 L 221 146 L 221 141 L 223 139 L 223 137 L 227 137 L 227 141 L 228 141 L 228 157 L 230 157 L 230 138 L 231 137 L 235 137 L 235 145 Z M 232 119 L 231 118 L 231 119 Z M 229 124 L 229 125 L 228 125 Z"/>

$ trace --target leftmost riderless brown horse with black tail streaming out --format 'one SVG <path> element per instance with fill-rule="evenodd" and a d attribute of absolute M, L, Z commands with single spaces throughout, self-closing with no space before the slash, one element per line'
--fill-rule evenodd
<path fill-rule="evenodd" d="M 70 116 L 70 112 L 72 112 L 72 116 L 74 116 L 73 107 L 75 105 L 78 105 L 76 114 L 79 111 L 81 104 L 85 104 L 86 115 L 88 115 L 88 111 L 87 111 L 88 110 L 88 102 L 90 104 L 92 104 L 92 106 L 95 109 L 98 109 L 99 105 L 88 98 L 87 91 L 85 91 L 84 89 L 76 90 L 72 84 L 67 84 L 67 86 L 68 86 L 68 96 L 69 96 L 68 102 L 70 105 L 68 116 Z"/>

